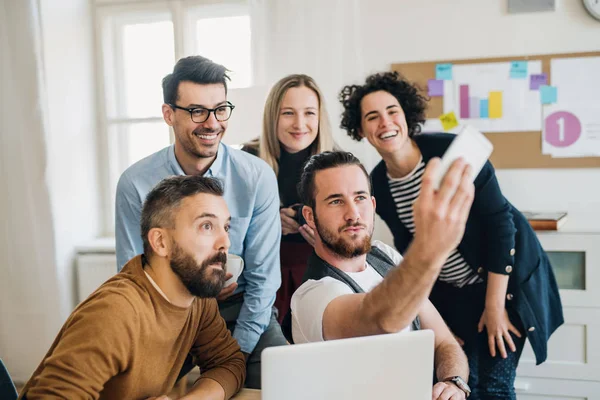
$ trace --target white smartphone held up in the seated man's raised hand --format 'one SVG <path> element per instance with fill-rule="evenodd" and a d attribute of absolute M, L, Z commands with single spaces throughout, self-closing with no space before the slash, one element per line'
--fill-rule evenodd
<path fill-rule="evenodd" d="M 471 179 L 474 181 L 485 162 L 490 158 L 492 150 L 494 150 L 492 142 L 483 133 L 470 125 L 465 126 L 442 156 L 441 167 L 433 181 L 434 189 L 440 188 L 444 175 L 459 157 L 462 157 L 471 166 Z"/>

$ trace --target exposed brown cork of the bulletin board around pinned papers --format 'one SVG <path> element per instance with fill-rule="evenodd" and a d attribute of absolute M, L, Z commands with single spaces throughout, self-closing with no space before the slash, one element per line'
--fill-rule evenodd
<path fill-rule="evenodd" d="M 556 58 L 599 57 L 600 52 L 547 54 L 525 57 L 480 58 L 470 60 L 438 60 L 432 62 L 415 62 L 393 64 L 392 70 L 399 72 L 417 86 L 427 96 L 429 79 L 436 78 L 436 65 L 451 63 L 453 65 L 478 64 L 511 61 L 541 61 L 542 72 L 547 74 L 548 85 L 552 84 L 550 61 Z M 431 97 L 428 102 L 426 118 L 438 118 L 444 113 L 443 99 Z M 542 116 L 540 116 L 542 118 Z M 493 132 L 484 134 L 494 145 L 490 161 L 496 168 L 594 168 L 600 167 L 600 157 L 553 158 L 542 154 L 542 132 Z"/>

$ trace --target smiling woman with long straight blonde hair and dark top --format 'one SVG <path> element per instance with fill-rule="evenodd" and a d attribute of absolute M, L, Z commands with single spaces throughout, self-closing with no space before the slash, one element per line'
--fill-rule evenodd
<path fill-rule="evenodd" d="M 300 212 L 296 185 L 304 162 L 313 154 L 334 149 L 323 94 L 307 75 L 289 75 L 269 92 L 259 139 L 243 150 L 265 160 L 277 175 L 281 200 L 281 287 L 275 307 L 279 321 L 290 307 L 294 291 L 302 284 L 314 232 Z"/>

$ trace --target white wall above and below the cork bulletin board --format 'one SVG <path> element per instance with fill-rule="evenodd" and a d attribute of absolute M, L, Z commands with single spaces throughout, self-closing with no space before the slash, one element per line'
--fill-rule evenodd
<path fill-rule="evenodd" d="M 505 0 L 361 0 L 367 73 L 391 64 L 600 50 L 600 21 L 581 1 L 554 12 L 508 14 Z M 600 231 L 600 169 L 499 170 L 518 208 L 567 210 L 569 231 Z M 379 237 L 390 239 L 378 226 Z"/>

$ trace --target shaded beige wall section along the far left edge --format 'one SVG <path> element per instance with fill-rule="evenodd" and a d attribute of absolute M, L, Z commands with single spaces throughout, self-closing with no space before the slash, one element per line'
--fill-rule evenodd
<path fill-rule="evenodd" d="M 0 357 L 26 378 L 56 334 L 38 13 L 0 3 Z"/>

